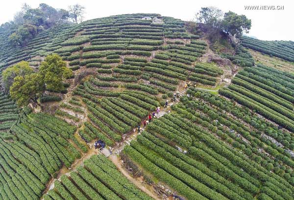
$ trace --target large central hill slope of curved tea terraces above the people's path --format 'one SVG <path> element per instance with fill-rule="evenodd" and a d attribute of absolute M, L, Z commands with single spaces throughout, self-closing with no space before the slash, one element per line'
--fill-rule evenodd
<path fill-rule="evenodd" d="M 57 50 L 60 54 L 73 51 L 64 59 L 74 70 L 71 84 L 77 87 L 73 94 L 82 97 L 77 100 L 88 111 L 89 120 L 79 132 L 86 142 L 96 137 L 108 145 L 120 142 L 185 81 L 208 86 L 220 82 L 223 71 L 216 64 L 194 64 L 207 44 L 193 39 L 198 36 L 187 33 L 183 21 L 147 15 L 156 16 L 158 23 L 142 20 L 142 16 L 85 22 L 80 25 L 80 36 L 65 41 L 67 46 Z M 73 106 L 66 107 L 74 111 Z M 74 112 L 62 110 L 56 114 L 67 121 L 84 122 Z"/>

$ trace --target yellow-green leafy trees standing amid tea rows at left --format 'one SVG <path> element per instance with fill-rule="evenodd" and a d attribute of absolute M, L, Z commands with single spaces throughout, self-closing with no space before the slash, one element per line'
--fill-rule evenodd
<path fill-rule="evenodd" d="M 37 103 L 45 90 L 62 91 L 62 81 L 73 73 L 60 56 L 53 54 L 45 58 L 38 72 L 30 68 L 28 62 L 22 61 L 5 69 L 2 74 L 5 90 L 9 90 L 18 106 L 24 106 L 30 101 Z"/>

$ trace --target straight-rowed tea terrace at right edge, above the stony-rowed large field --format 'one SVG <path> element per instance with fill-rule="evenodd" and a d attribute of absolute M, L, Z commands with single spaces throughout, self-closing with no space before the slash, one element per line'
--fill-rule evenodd
<path fill-rule="evenodd" d="M 293 75 L 264 65 L 245 68 L 220 93 L 294 131 Z"/>

